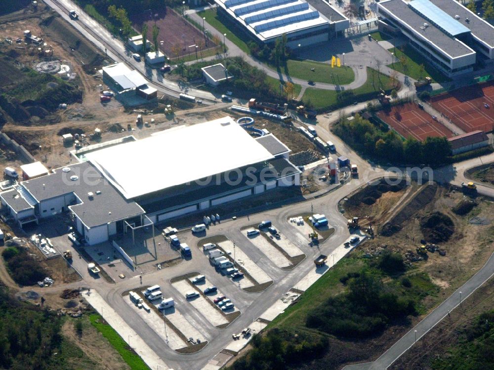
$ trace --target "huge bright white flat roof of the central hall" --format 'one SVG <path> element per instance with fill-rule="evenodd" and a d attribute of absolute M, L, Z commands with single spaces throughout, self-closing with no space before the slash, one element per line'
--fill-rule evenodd
<path fill-rule="evenodd" d="M 86 157 L 127 199 L 274 158 L 230 117 L 175 127 Z"/>

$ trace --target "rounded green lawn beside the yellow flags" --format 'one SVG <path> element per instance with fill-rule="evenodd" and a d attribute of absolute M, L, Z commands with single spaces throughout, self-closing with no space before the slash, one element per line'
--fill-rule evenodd
<path fill-rule="evenodd" d="M 314 72 L 311 71 L 312 68 L 314 68 Z M 331 63 L 288 59 L 287 70 L 290 77 L 307 81 L 347 85 L 355 80 L 355 74 L 350 67 L 338 68 L 335 66 L 331 68 Z M 286 72 L 284 67 L 282 67 L 282 71 Z"/>

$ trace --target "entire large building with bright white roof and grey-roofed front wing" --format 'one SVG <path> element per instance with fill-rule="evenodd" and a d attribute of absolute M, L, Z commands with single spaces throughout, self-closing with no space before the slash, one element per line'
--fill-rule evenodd
<path fill-rule="evenodd" d="M 76 152 L 80 163 L 15 185 L 0 193 L 0 202 L 21 227 L 69 212 L 94 245 L 128 227 L 214 212 L 220 204 L 299 185 L 289 152 L 273 135 L 252 138 L 224 117 L 83 148 Z"/>

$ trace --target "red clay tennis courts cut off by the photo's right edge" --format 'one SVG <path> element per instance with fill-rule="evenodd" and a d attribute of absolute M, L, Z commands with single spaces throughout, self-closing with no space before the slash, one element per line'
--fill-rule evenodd
<path fill-rule="evenodd" d="M 494 83 L 463 87 L 431 98 L 431 105 L 465 132 L 494 127 Z"/>

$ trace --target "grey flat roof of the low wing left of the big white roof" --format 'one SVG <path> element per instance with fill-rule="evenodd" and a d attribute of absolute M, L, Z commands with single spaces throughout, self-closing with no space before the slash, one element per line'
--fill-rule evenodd
<path fill-rule="evenodd" d="M 69 172 L 58 168 L 50 175 L 25 181 L 22 185 L 39 202 L 64 194 L 76 194 L 82 203 L 76 201 L 70 208 L 87 227 L 144 213 L 137 203 L 127 201 L 90 162 L 74 164 L 67 168 L 70 168 Z M 76 181 L 71 180 L 74 175 L 78 176 Z M 96 194 L 96 191 L 101 193 Z M 89 198 L 88 192 L 94 194 L 92 199 Z"/>

